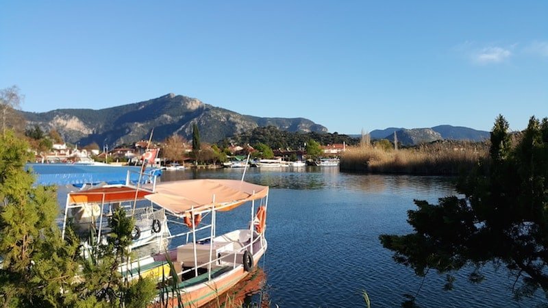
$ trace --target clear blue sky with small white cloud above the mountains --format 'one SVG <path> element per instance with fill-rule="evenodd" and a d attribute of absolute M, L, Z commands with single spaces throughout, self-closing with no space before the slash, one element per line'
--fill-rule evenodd
<path fill-rule="evenodd" d="M 2 1 L 22 109 L 173 92 L 329 131 L 548 116 L 548 1 Z"/>

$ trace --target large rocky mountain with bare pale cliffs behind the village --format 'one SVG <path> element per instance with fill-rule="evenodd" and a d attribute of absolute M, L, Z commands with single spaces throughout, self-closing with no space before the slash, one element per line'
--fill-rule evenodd
<path fill-rule="evenodd" d="M 306 118 L 260 118 L 214 107 L 190 97 L 166 94 L 157 99 L 101 110 L 60 109 L 23 112 L 29 125 L 56 129 L 66 142 L 75 144 L 127 144 L 148 139 L 164 140 L 177 133 L 192 140 L 196 123 L 203 142 L 218 142 L 236 133 L 271 125 L 281 130 L 327 132 L 327 128 Z"/>

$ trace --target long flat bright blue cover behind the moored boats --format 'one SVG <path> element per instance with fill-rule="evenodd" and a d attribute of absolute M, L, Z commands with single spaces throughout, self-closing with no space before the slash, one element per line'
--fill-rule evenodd
<path fill-rule="evenodd" d="M 127 171 L 132 183 L 139 179 L 140 166 L 97 166 L 86 164 L 27 164 L 27 170 L 36 174 L 36 183 L 39 185 L 81 185 L 97 183 L 125 183 Z M 161 170 L 147 168 L 142 176 L 142 183 L 151 179 L 151 172 L 155 176 L 161 175 Z"/>

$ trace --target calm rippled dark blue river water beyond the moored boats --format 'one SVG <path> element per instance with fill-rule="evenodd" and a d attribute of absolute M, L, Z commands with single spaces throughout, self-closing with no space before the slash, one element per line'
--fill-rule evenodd
<path fill-rule="evenodd" d="M 164 172 L 162 181 L 240 179 L 242 171 Z M 261 295 L 271 307 L 364 307 L 364 290 L 373 307 L 399 307 L 403 294 L 415 294 L 422 279 L 396 264 L 378 237 L 412 231 L 406 212 L 415 209 L 413 199 L 436 202 L 454 193 L 448 178 L 356 175 L 338 168 L 308 167 L 296 172 L 251 168 L 245 180 L 271 188 L 269 250 L 260 262 L 266 277 Z M 245 214 L 249 215 L 247 210 Z M 226 231 L 232 227 L 227 223 Z M 222 231 L 219 227 L 218 233 Z M 466 280 L 467 272 L 458 274 L 450 292 L 442 290 L 445 276 L 431 272 L 417 303 L 421 307 L 533 307 L 543 302 L 540 294 L 534 300 L 514 301 L 514 280 L 506 270 L 495 272 L 488 266 L 484 272 L 486 281 L 478 285 Z M 259 295 L 247 299 L 257 302 Z"/>

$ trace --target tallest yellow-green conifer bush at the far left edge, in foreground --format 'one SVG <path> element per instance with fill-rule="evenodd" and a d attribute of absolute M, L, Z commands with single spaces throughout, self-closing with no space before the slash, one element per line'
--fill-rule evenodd
<path fill-rule="evenodd" d="M 55 190 L 24 170 L 27 149 L 12 131 L 0 138 L 0 304 L 51 306 L 71 294 L 76 247 L 61 241 Z"/>

